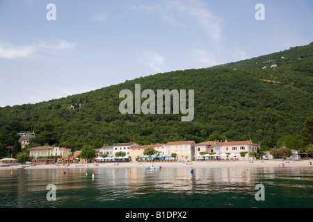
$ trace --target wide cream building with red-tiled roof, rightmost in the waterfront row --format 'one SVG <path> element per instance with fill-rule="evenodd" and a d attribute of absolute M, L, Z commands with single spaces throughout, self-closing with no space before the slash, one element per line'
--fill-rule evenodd
<path fill-rule="evenodd" d="M 214 145 L 214 153 L 232 153 L 236 155 L 236 159 L 239 160 L 252 160 L 252 157 L 249 155 L 250 152 L 257 153 L 257 144 L 253 144 L 252 140 L 247 141 L 234 141 L 234 142 L 220 142 Z M 241 152 L 248 152 L 244 157 L 241 157 Z"/>

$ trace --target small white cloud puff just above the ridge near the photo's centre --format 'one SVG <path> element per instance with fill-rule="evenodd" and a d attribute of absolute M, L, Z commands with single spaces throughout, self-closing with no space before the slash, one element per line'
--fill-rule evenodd
<path fill-rule="evenodd" d="M 154 51 L 141 52 L 141 58 L 139 58 L 139 62 L 158 72 L 160 72 L 165 67 L 165 58 L 160 56 L 158 53 L 155 53 Z"/>

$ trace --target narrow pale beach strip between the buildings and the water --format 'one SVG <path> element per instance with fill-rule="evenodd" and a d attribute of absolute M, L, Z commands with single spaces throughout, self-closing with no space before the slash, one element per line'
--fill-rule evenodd
<path fill-rule="evenodd" d="M 0 167 L 1 170 L 13 169 L 94 169 L 94 168 L 126 168 L 126 167 L 147 167 L 152 162 L 119 162 L 117 163 L 90 163 L 90 164 L 48 164 L 48 165 L 15 165 L 8 167 Z M 241 160 L 241 161 L 193 161 L 186 164 L 183 162 L 153 162 L 155 167 L 162 168 L 209 168 L 209 167 L 313 167 L 311 160 Z M 312 168 L 313 169 L 313 168 Z"/>

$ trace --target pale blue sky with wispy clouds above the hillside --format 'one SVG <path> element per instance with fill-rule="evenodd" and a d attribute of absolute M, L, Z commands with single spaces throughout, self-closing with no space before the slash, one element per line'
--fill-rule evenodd
<path fill-rule="evenodd" d="M 312 0 L 0 0 L 0 107 L 310 42 Z"/>

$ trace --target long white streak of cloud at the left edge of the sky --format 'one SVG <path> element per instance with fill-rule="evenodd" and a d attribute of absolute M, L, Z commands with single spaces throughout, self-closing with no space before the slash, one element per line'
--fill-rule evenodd
<path fill-rule="evenodd" d="M 65 40 L 59 40 L 54 44 L 47 44 L 47 42 L 37 42 L 36 44 L 26 46 L 15 46 L 8 42 L 0 40 L 0 58 L 17 59 L 17 58 L 31 58 L 36 52 L 56 52 L 66 49 L 73 49 L 77 43 L 70 43 Z"/>

